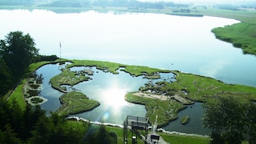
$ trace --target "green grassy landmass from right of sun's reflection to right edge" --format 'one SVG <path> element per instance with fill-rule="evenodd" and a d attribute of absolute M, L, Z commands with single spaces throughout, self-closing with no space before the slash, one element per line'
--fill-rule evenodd
<path fill-rule="evenodd" d="M 256 88 L 242 85 L 229 85 L 220 82 L 214 78 L 203 77 L 195 74 L 183 74 L 174 71 L 177 74 L 175 82 L 158 82 L 154 86 L 145 86 L 140 90 L 154 90 L 159 94 L 166 95 L 178 94 L 183 98 L 189 98 L 194 101 L 207 102 L 216 97 L 233 97 L 242 102 L 256 100 Z M 188 94 L 182 92 L 186 90 Z M 146 117 L 153 123 L 158 115 L 158 126 L 165 126 L 174 118 L 177 118 L 178 110 L 184 106 L 170 98 L 166 101 L 159 99 L 144 98 L 134 95 L 134 92 L 126 94 L 126 101 L 145 105 Z"/>

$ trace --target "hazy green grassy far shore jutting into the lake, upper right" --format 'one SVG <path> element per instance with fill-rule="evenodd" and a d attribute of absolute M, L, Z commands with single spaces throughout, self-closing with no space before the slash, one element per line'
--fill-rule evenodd
<path fill-rule="evenodd" d="M 216 38 L 242 48 L 244 54 L 256 55 L 256 10 L 220 10 L 199 8 L 204 15 L 233 18 L 241 21 L 231 26 L 214 28 Z"/>

